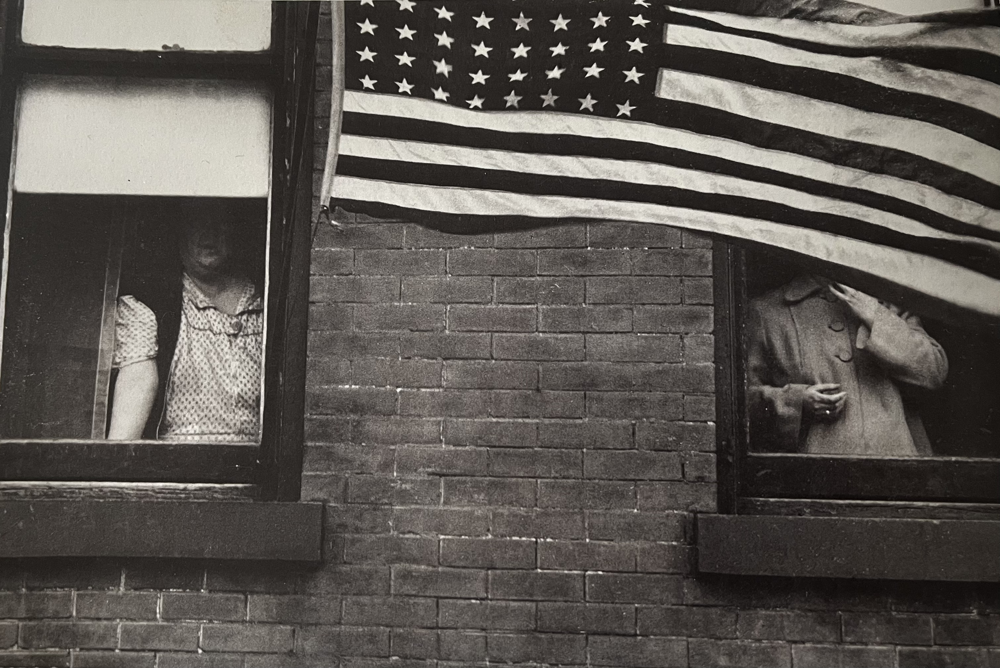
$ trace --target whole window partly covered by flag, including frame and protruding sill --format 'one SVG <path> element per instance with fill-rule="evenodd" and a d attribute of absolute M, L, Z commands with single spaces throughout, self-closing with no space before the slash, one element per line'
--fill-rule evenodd
<path fill-rule="evenodd" d="M 757 246 L 715 261 L 725 515 L 699 520 L 701 568 L 1000 577 L 1000 323 Z M 843 285 L 878 296 L 871 328 Z M 810 409 L 827 383 L 846 405 Z"/>

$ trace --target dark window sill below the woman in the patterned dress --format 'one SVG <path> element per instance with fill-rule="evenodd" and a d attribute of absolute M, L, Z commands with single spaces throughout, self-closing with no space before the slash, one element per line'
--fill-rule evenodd
<path fill-rule="evenodd" d="M 320 561 L 323 506 L 240 501 L 0 501 L 0 558 Z"/>

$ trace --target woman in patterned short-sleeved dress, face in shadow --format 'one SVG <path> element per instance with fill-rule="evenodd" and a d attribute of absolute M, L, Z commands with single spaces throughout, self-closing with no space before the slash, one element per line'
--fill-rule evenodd
<path fill-rule="evenodd" d="M 263 301 L 236 261 L 238 227 L 225 208 L 200 204 L 183 212 L 179 308 L 157 327 L 148 306 L 119 299 L 108 438 L 141 437 L 157 394 L 159 354 L 169 360 L 159 438 L 256 442 Z"/>

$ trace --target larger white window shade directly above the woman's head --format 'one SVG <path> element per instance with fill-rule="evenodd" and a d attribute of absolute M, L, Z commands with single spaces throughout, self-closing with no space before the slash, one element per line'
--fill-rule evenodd
<path fill-rule="evenodd" d="M 32 77 L 20 91 L 14 189 L 266 197 L 263 84 Z"/>

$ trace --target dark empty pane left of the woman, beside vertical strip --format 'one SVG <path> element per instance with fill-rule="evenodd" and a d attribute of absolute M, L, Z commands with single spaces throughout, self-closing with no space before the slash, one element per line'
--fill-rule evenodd
<path fill-rule="evenodd" d="M 109 218 L 81 198 L 21 198 L 12 208 L 0 437 L 90 438 Z"/>

